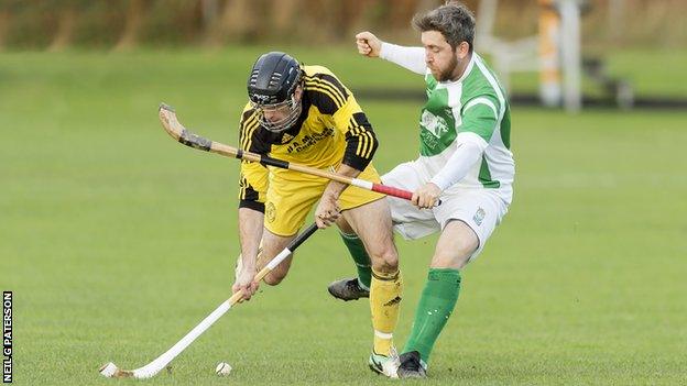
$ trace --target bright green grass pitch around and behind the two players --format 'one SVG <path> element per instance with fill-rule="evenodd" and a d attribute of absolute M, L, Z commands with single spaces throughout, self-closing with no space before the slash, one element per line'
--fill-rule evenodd
<path fill-rule="evenodd" d="M 238 164 L 174 143 L 156 108 L 237 143 L 261 51 L 0 54 L 0 287 L 14 291 L 17 384 L 138 384 L 98 367 L 150 362 L 230 295 Z M 327 54 L 353 86 L 416 82 Z M 414 158 L 418 106 L 360 102 L 381 141 L 378 168 Z M 464 273 L 429 384 L 687 384 L 686 119 L 513 110 L 514 203 Z M 399 343 L 435 240 L 397 241 Z M 326 293 L 352 273 L 336 231 L 299 251 L 282 285 L 145 384 L 388 384 L 366 365 L 367 302 Z M 214 374 L 220 361 L 235 367 L 228 378 Z"/>

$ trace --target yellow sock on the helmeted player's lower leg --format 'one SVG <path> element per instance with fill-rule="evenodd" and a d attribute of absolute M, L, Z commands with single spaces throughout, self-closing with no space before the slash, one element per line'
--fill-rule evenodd
<path fill-rule="evenodd" d="M 393 331 L 399 321 L 403 280 L 399 271 L 381 273 L 372 269 L 370 310 L 374 329 L 374 352 L 389 355 L 393 346 Z"/>

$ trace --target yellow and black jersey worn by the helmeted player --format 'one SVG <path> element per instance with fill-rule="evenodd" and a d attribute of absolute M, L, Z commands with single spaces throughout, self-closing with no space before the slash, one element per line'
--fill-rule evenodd
<path fill-rule="evenodd" d="M 296 124 L 270 132 L 247 103 L 239 124 L 241 150 L 323 169 L 344 163 L 363 170 L 378 141 L 353 95 L 326 67 L 303 66 L 303 111 Z M 240 207 L 263 211 L 268 175 L 260 163 L 241 163 Z"/>

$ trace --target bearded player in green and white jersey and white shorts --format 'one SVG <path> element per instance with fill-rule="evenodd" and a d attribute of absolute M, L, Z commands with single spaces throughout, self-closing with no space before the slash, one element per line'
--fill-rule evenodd
<path fill-rule="evenodd" d="M 460 269 L 482 251 L 506 213 L 515 174 L 508 97 L 473 52 L 472 13 L 450 2 L 415 15 L 413 24 L 423 47 L 384 43 L 370 32 L 356 36 L 361 54 L 423 75 L 427 92 L 419 115 L 419 157 L 382 177 L 385 185 L 414 191 L 412 205 L 389 198 L 399 233 L 417 239 L 441 231 L 399 377 L 426 376 L 432 349 L 458 300 Z M 345 242 L 353 252 L 355 243 Z M 358 257 L 359 277 L 332 283 L 335 297 L 364 296 L 366 260 L 361 253 Z"/>

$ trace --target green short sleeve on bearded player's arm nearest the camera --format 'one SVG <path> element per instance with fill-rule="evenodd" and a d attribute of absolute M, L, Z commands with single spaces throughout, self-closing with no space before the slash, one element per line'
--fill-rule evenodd
<path fill-rule="evenodd" d="M 497 129 L 499 102 L 490 96 L 480 96 L 468 100 L 462 108 L 462 123 L 458 133 L 475 133 L 489 142 Z"/>

